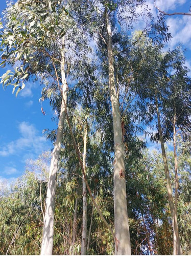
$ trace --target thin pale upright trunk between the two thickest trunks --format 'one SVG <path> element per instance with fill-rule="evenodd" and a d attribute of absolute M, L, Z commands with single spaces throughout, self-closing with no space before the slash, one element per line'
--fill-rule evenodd
<path fill-rule="evenodd" d="M 87 144 L 87 128 L 84 129 L 84 154 L 83 154 L 83 168 L 86 169 L 86 144 Z M 83 220 L 82 220 L 82 244 L 81 255 L 86 254 L 87 250 L 87 189 L 86 182 L 83 175 L 82 179 L 82 196 L 83 196 Z"/>

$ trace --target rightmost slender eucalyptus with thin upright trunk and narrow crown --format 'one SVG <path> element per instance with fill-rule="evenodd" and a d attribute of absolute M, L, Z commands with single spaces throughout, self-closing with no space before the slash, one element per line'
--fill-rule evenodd
<path fill-rule="evenodd" d="M 190 78 L 187 76 L 188 68 L 184 66 L 185 57 L 180 49 L 169 53 L 173 58 L 172 68 L 174 72 L 170 76 L 168 82 L 168 90 L 163 99 L 163 116 L 165 133 L 170 135 L 173 140 L 174 149 L 174 173 L 175 173 L 175 232 L 178 239 L 178 223 L 177 223 L 177 207 L 178 207 L 178 156 L 177 156 L 177 137 L 182 138 L 183 141 L 188 141 L 191 135 L 191 122 L 190 122 Z M 168 57 L 168 56 L 166 56 Z M 178 244 L 178 245 L 177 245 Z M 180 253 L 180 243 L 176 243 L 176 253 Z"/>

